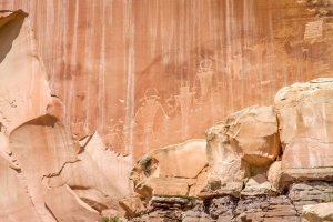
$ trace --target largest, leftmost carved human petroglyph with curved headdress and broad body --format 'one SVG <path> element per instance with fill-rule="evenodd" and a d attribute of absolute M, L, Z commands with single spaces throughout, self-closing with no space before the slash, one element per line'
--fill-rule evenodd
<path fill-rule="evenodd" d="M 169 119 L 161 103 L 157 101 L 158 99 L 160 98 L 158 97 L 158 90 L 155 88 L 145 90 L 144 98 L 140 100 L 144 101 L 144 103 L 137 111 L 133 121 L 135 134 L 141 134 L 140 137 L 144 138 L 147 144 L 149 141 L 154 140 L 153 124 L 157 113 L 162 112 L 163 119 Z"/>

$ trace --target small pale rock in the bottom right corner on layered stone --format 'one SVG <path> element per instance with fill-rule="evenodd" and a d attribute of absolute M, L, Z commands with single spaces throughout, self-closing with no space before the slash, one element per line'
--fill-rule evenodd
<path fill-rule="evenodd" d="M 304 205 L 303 222 L 333 221 L 333 202 Z"/>

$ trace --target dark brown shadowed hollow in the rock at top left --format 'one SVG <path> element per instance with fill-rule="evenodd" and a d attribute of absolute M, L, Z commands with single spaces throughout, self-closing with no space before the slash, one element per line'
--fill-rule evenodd
<path fill-rule="evenodd" d="M 8 17 L 0 17 L 0 63 L 12 48 L 12 42 L 20 33 L 24 18 L 28 13 L 22 10 L 16 11 Z"/>

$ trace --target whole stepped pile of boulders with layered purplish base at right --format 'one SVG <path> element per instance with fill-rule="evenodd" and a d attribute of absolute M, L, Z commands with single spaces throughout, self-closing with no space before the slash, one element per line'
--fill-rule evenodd
<path fill-rule="evenodd" d="M 282 88 L 274 101 L 228 115 L 206 141 L 142 157 L 130 176 L 142 203 L 132 220 L 332 220 L 322 202 L 333 201 L 333 79 Z"/>

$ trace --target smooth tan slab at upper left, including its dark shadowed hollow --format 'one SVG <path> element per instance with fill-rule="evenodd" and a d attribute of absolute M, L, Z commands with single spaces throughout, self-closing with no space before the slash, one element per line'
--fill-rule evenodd
<path fill-rule="evenodd" d="M 50 89 L 27 13 L 0 18 L 0 122 L 10 133 L 23 122 L 46 114 Z"/>

